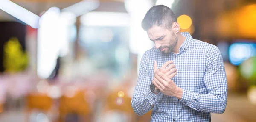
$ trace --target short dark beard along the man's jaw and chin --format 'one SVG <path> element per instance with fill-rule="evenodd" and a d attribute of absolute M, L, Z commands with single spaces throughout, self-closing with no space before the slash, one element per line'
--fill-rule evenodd
<path fill-rule="evenodd" d="M 173 48 L 176 46 L 178 42 L 178 37 L 177 35 L 172 32 L 172 39 L 170 39 L 170 44 L 168 46 L 160 46 L 159 49 L 162 50 L 163 48 L 167 48 L 167 50 L 164 50 L 163 53 L 169 54 L 172 53 Z"/>

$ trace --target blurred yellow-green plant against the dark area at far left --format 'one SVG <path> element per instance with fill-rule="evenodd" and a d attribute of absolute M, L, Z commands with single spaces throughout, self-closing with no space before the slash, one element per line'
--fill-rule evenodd
<path fill-rule="evenodd" d="M 5 72 L 20 72 L 28 65 L 28 55 L 23 51 L 17 38 L 11 38 L 4 44 L 3 67 Z"/>

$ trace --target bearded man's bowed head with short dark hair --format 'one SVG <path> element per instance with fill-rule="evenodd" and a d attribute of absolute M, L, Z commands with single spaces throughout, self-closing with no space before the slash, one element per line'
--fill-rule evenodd
<path fill-rule="evenodd" d="M 150 8 L 141 26 L 147 31 L 150 40 L 154 41 L 157 49 L 166 54 L 172 52 L 177 44 L 180 25 L 169 7 L 157 5 Z"/>

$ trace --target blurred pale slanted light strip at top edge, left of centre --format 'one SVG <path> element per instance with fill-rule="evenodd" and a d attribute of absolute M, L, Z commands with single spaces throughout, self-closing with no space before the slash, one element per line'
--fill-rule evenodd
<path fill-rule="evenodd" d="M 99 7 L 99 0 L 83 0 L 79 3 L 73 4 L 61 11 L 71 12 L 76 17 L 81 16 L 89 11 L 92 11 Z"/>

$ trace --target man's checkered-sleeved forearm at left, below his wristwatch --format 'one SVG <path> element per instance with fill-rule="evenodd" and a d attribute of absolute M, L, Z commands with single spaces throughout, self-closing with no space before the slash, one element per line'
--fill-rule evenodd
<path fill-rule="evenodd" d="M 133 97 L 131 106 L 138 116 L 146 114 L 152 109 L 152 105 L 157 101 L 157 94 L 154 94 L 147 89 L 138 97 Z"/>

